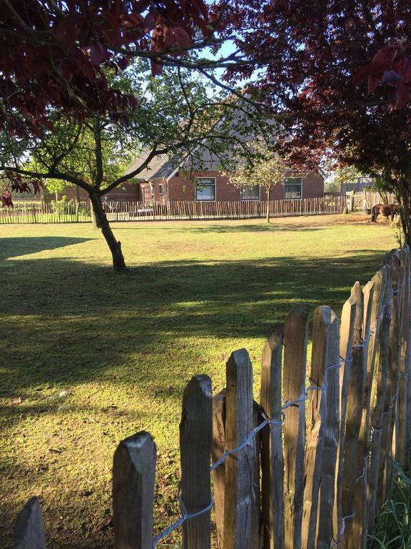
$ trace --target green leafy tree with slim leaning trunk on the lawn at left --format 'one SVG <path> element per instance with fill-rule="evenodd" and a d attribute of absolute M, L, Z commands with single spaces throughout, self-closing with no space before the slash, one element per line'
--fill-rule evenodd
<path fill-rule="evenodd" d="M 171 67 L 153 79 L 148 61 L 136 60 L 121 74 L 111 71 L 108 81 L 113 89 L 123 92 L 122 97 L 133 90 L 137 98 L 136 103 L 122 105 L 116 121 L 113 115 L 106 119 L 93 113 L 78 122 L 59 109 L 50 109 L 51 125 L 41 136 L 25 139 L 4 134 L 0 170 L 20 185 L 21 179 L 51 179 L 86 190 L 111 250 L 113 268 L 123 272 L 126 263 L 121 243 L 103 211 L 102 197 L 138 176 L 158 155 L 190 159 L 199 149 L 208 149 L 222 164 L 228 164 L 228 150 L 238 150 L 241 157 L 253 155 L 243 136 L 255 129 L 268 136 L 275 128 L 263 112 L 229 91 L 217 91 L 203 79 L 193 79 L 189 69 Z M 136 159 L 133 170 L 124 173 L 122 167 L 132 159 Z"/>

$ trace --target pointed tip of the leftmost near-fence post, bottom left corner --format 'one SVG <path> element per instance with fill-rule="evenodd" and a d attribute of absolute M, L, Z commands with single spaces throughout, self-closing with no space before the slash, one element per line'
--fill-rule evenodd
<path fill-rule="evenodd" d="M 17 518 L 14 528 L 14 549 L 46 549 L 39 498 L 31 498 Z"/>

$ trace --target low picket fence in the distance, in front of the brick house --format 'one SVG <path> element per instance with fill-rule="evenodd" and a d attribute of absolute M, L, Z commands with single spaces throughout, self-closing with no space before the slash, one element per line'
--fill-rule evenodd
<path fill-rule="evenodd" d="M 108 221 L 163 221 L 173 219 L 253 219 L 265 217 L 266 204 L 242 202 L 103 202 Z M 302 200 L 271 200 L 271 217 L 338 214 L 345 208 L 345 197 L 318 197 Z M 0 208 L 0 224 L 4 223 L 68 223 L 91 222 L 87 201 L 66 204 L 16 202 L 12 208 Z"/>

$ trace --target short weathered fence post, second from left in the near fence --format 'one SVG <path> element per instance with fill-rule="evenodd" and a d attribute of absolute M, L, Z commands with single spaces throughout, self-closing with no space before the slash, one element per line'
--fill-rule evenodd
<path fill-rule="evenodd" d="M 141 431 L 120 442 L 113 460 L 115 549 L 152 549 L 156 445 Z"/>

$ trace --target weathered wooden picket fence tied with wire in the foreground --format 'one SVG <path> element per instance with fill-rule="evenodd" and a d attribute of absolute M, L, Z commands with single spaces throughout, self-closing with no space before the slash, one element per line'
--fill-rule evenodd
<path fill-rule="evenodd" d="M 181 518 L 153 535 L 156 445 L 138 432 L 114 454 L 114 547 L 153 549 L 182 527 L 184 549 L 365 549 L 397 467 L 410 464 L 410 321 L 404 247 L 355 282 L 341 320 L 315 309 L 309 372 L 309 307 L 291 310 L 263 348 L 259 403 L 245 349 L 230 355 L 218 394 L 194 376 L 180 425 Z M 16 548 L 45 543 L 33 498 Z"/>

